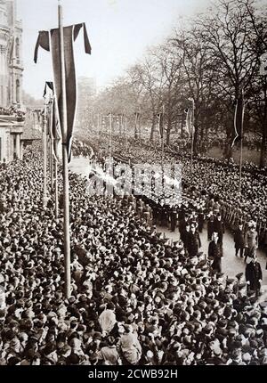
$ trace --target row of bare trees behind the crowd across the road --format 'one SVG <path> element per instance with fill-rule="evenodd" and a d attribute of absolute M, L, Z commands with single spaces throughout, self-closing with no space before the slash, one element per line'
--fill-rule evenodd
<path fill-rule="evenodd" d="M 267 77 L 261 59 L 267 53 L 267 13 L 255 0 L 216 0 L 205 14 L 174 30 L 164 44 L 150 48 L 125 77 L 101 92 L 90 114 L 125 114 L 150 126 L 155 138 L 158 112 L 165 106 L 166 144 L 185 125 L 184 110 L 195 103 L 194 152 L 208 135 L 226 134 L 231 157 L 234 102 L 245 93 L 245 132 L 262 142 L 261 166 L 267 165 Z M 267 64 L 266 64 L 267 66 Z M 266 72 L 267 73 L 267 72 Z"/>

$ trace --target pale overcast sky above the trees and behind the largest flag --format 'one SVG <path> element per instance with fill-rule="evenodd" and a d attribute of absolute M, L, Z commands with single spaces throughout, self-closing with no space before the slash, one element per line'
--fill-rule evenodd
<path fill-rule="evenodd" d="M 142 58 L 188 16 L 203 12 L 209 0 L 61 0 L 64 25 L 85 22 L 93 48 L 85 54 L 82 34 L 76 43 L 77 76 L 109 83 Z M 58 0 L 17 0 L 23 22 L 24 89 L 41 98 L 44 81 L 52 79 L 50 53 L 39 50 L 33 61 L 38 30 L 57 27 Z"/>

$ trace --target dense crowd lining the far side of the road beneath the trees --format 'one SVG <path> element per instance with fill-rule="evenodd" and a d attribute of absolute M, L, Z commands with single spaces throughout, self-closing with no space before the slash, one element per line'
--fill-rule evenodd
<path fill-rule="evenodd" d="M 98 159 L 110 154 L 109 137 L 101 137 L 101 145 L 91 139 Z M 131 141 L 125 145 L 124 140 L 116 139 L 112 142 L 112 155 L 120 161 L 131 164 L 148 163 L 161 164 L 162 152 L 157 145 L 150 147 L 138 141 Z M 220 200 L 223 205 L 224 218 L 231 227 L 239 220 L 256 222 L 256 229 L 260 242 L 267 245 L 267 169 L 258 169 L 252 163 L 246 163 L 242 172 L 242 187 L 239 193 L 239 166 L 227 160 L 198 157 L 193 159 L 192 173 L 190 173 L 190 156 L 176 153 L 166 148 L 164 164 L 182 164 L 182 192 L 183 200 L 203 201 L 203 195 Z M 158 200 L 162 196 L 158 196 Z M 206 197 L 205 197 L 206 198 Z M 167 201 L 166 201 L 167 205 Z M 179 202 L 177 201 L 177 205 Z M 196 203 L 195 205 L 199 205 Z M 201 206 L 202 208 L 202 206 Z"/>

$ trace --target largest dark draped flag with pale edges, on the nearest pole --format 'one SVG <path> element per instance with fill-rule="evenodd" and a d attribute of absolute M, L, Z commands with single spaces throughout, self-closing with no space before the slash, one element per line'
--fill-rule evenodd
<path fill-rule="evenodd" d="M 74 59 L 74 42 L 80 29 L 84 29 L 85 53 L 91 54 L 91 45 L 87 36 L 85 23 L 65 27 L 64 30 L 64 55 L 66 69 L 66 98 L 67 98 L 67 119 L 68 129 L 66 136 L 62 136 L 62 143 L 67 145 L 69 161 L 71 158 L 71 140 L 73 134 L 74 120 L 77 110 L 77 81 Z M 36 42 L 35 62 L 37 62 L 38 49 L 41 46 L 45 51 L 52 52 L 53 77 L 56 102 L 59 110 L 60 124 L 62 130 L 62 89 L 61 89 L 61 54 L 60 54 L 60 29 L 42 30 Z"/>

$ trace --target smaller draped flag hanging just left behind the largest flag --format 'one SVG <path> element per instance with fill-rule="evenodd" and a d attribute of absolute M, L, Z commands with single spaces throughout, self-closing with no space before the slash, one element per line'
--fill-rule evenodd
<path fill-rule="evenodd" d="M 54 97 L 54 89 L 53 89 L 53 82 L 51 81 L 46 81 L 45 86 L 44 86 L 44 97 L 46 94 L 48 94 L 48 90 L 51 90 L 51 95 L 52 95 L 52 102 L 50 102 L 50 108 L 48 111 L 48 132 L 47 134 L 49 135 L 50 139 L 52 140 L 52 147 L 53 147 L 53 157 L 57 161 L 60 161 L 59 159 L 59 143 L 61 141 L 61 128 L 59 125 L 59 113 L 57 110 L 57 103 L 55 102 L 55 97 Z"/>

